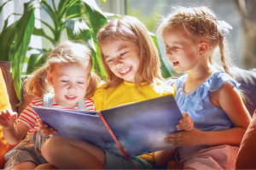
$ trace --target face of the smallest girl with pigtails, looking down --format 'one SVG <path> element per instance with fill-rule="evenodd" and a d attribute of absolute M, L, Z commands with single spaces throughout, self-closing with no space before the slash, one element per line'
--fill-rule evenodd
<path fill-rule="evenodd" d="M 90 80 L 82 66 L 56 64 L 54 71 L 48 71 L 47 74 L 49 84 L 54 86 L 57 104 L 72 108 L 84 99 Z"/>

